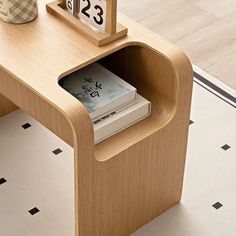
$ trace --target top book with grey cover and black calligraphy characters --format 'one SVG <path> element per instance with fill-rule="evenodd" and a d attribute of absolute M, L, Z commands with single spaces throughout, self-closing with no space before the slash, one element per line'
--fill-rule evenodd
<path fill-rule="evenodd" d="M 83 103 L 92 120 L 117 110 L 136 97 L 136 88 L 98 63 L 64 77 L 59 84 Z"/>

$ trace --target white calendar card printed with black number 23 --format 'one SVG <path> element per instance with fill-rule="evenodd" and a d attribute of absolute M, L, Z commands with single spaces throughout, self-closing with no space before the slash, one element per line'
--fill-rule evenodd
<path fill-rule="evenodd" d="M 77 0 L 79 17 L 101 32 L 106 31 L 107 0 Z"/>

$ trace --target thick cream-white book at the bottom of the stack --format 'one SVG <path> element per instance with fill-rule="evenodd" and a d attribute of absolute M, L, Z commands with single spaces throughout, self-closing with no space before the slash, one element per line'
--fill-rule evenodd
<path fill-rule="evenodd" d="M 151 103 L 137 94 L 135 103 L 93 122 L 95 144 L 128 128 L 151 113 Z"/>

